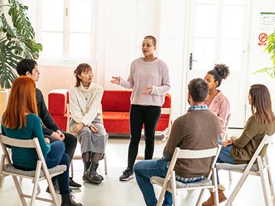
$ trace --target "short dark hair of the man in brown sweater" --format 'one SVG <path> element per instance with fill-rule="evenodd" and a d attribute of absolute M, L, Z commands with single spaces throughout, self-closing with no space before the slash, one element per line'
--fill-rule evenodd
<path fill-rule="evenodd" d="M 188 84 L 188 91 L 194 102 L 203 102 L 208 95 L 208 84 L 201 78 L 193 79 Z"/>

